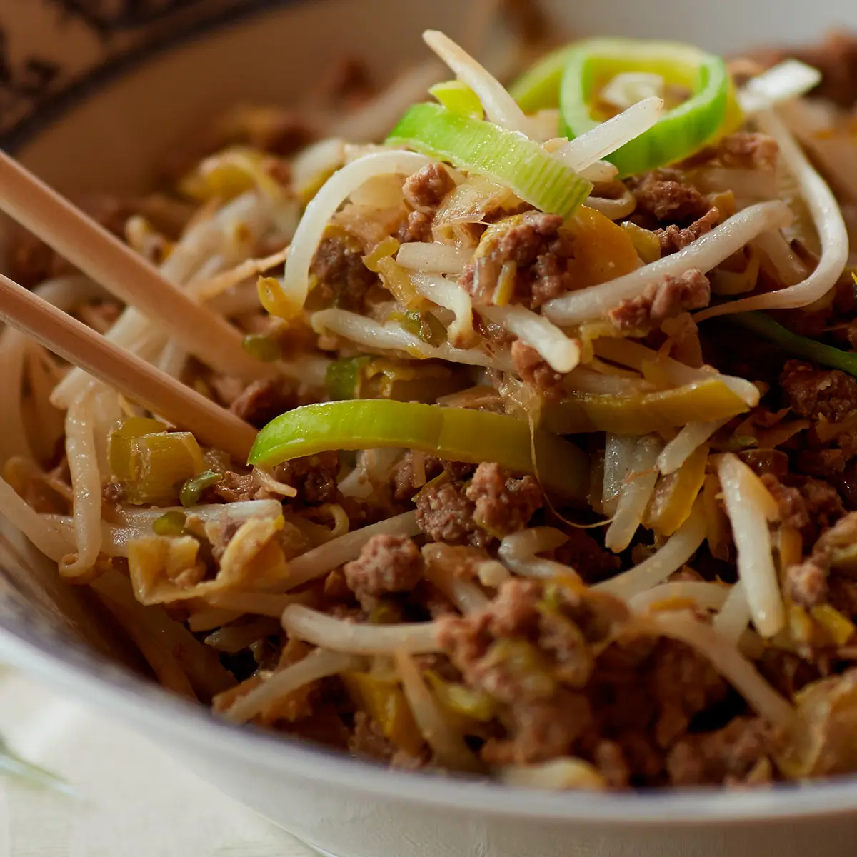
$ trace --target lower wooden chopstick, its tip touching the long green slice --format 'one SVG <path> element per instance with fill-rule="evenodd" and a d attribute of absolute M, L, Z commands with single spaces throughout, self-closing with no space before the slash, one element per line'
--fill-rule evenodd
<path fill-rule="evenodd" d="M 3 274 L 0 318 L 207 446 L 247 460 L 255 428 Z"/>

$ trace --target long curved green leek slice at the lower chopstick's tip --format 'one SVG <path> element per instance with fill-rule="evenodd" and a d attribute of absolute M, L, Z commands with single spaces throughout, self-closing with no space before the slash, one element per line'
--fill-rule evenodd
<path fill-rule="evenodd" d="M 495 461 L 538 476 L 546 488 L 583 499 L 589 460 L 577 446 L 524 420 L 490 411 L 389 399 L 303 405 L 273 419 L 256 437 L 249 463 L 273 467 L 327 450 L 404 447 L 451 461 Z M 535 450 L 534 464 L 531 450 Z"/>

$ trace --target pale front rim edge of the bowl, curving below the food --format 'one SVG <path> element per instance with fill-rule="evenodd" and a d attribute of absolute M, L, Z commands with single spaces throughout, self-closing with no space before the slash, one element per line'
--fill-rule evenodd
<path fill-rule="evenodd" d="M 287 735 L 238 726 L 206 706 L 170 692 L 89 651 L 69 658 L 56 638 L 19 626 L 0 624 L 0 652 L 9 664 L 60 692 L 111 710 L 144 734 L 164 735 L 173 743 L 202 749 L 234 764 L 253 764 L 272 776 L 319 785 L 444 812 L 479 812 L 520 821 L 578 825 L 662 824 L 711 826 L 791 821 L 853 814 L 857 776 L 771 788 L 652 790 L 647 793 L 553 793 L 512 788 L 496 782 L 389 770 L 380 764 L 313 746 Z M 102 673 L 102 674 L 99 674 Z"/>

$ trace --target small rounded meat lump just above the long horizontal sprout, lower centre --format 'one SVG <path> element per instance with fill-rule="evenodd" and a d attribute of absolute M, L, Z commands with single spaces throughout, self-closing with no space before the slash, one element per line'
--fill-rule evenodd
<path fill-rule="evenodd" d="M 342 569 L 364 610 L 388 592 L 410 592 L 423 579 L 423 555 L 407 536 L 372 536 Z"/>

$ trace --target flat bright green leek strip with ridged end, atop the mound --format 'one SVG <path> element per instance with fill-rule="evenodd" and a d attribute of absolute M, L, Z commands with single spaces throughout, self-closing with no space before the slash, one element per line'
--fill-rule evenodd
<path fill-rule="evenodd" d="M 434 104 L 413 105 L 387 142 L 493 179 L 543 212 L 567 218 L 592 184 L 538 143 Z"/>

